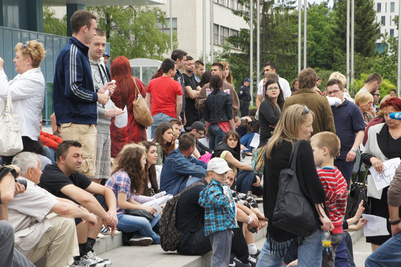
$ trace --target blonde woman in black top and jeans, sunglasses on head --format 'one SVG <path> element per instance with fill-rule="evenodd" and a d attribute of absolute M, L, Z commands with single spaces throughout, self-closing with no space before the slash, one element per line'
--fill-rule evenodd
<path fill-rule="evenodd" d="M 257 267 L 281 266 L 285 251 L 293 241 L 298 246 L 298 266 L 322 265 L 322 230 L 333 230 L 334 226 L 325 213 L 326 194 L 316 172 L 313 159 L 313 151 L 306 141 L 312 130 L 314 114 L 306 106 L 299 104 L 288 107 L 279 120 L 272 138 L 266 147 L 265 175 L 263 188 L 263 208 L 269 221 L 266 241 L 259 256 Z M 316 207 L 314 233 L 307 237 L 301 237 L 287 232 L 273 223 L 273 212 L 279 190 L 279 177 L 283 169 L 288 168 L 294 143 L 303 140 L 299 144 L 296 174 L 300 189 L 309 203 Z M 321 229 L 319 225 L 322 224 Z"/>

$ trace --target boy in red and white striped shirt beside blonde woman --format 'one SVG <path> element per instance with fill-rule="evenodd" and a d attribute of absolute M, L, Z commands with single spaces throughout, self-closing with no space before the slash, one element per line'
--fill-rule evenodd
<path fill-rule="evenodd" d="M 340 152 L 340 139 L 335 133 L 323 131 L 310 139 L 317 173 L 326 192 L 326 207 L 334 225 L 331 234 L 332 261 L 322 262 L 322 267 L 334 266 L 335 250 L 342 240 L 342 220 L 347 203 L 347 182 L 341 172 L 334 166 L 334 157 Z"/>

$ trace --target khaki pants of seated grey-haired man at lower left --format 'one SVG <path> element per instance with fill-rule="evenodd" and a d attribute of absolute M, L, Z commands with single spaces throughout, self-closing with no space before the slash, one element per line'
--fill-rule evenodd
<path fill-rule="evenodd" d="M 53 228 L 47 231 L 27 258 L 36 262 L 49 252 L 46 267 L 69 266 L 79 255 L 77 230 L 74 219 L 56 215 L 50 220 Z"/>

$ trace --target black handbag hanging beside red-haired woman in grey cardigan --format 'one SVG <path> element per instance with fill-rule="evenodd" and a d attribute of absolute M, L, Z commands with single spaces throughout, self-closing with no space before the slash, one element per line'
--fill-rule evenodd
<path fill-rule="evenodd" d="M 359 181 L 361 181 L 361 177 L 360 177 L 360 167 L 363 164 L 363 160 L 369 155 L 367 154 L 363 154 L 360 157 L 360 163 L 359 163 L 359 169 L 358 169 L 358 173 L 356 175 L 355 181 L 352 183 L 352 185 L 350 186 L 350 191 L 349 191 L 349 196 L 347 199 L 347 208 L 345 210 L 345 217 L 344 219 L 347 220 L 349 218 L 352 218 L 353 216 L 355 216 L 356 211 L 358 210 L 359 207 L 359 203 L 363 200 L 363 207 L 365 208 L 365 210 L 363 211 L 363 213 L 365 214 L 370 214 L 370 206 L 367 202 L 367 184 L 366 184 L 366 175 L 364 177 L 364 181 L 363 183 L 360 183 Z"/>

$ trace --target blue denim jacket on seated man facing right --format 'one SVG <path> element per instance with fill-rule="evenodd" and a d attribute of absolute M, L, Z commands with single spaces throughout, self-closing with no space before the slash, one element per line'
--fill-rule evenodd
<path fill-rule="evenodd" d="M 203 178 L 208 164 L 189 156 L 186 158 L 179 149 L 166 157 L 160 174 L 160 191 L 175 196 L 185 187 L 189 176 Z"/>

